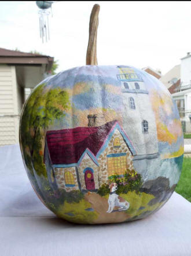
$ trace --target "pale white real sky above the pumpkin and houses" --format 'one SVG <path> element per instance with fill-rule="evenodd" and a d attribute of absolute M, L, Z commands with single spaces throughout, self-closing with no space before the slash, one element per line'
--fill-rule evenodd
<path fill-rule="evenodd" d="M 45 43 L 35 1 L 1 1 L 0 47 L 52 56 L 57 72 L 85 65 L 95 3 L 100 5 L 98 65 L 150 66 L 164 75 L 191 52 L 191 1 L 57 1 Z"/>

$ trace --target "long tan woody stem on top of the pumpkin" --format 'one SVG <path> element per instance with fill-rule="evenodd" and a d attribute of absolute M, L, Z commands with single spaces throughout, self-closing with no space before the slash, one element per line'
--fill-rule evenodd
<path fill-rule="evenodd" d="M 100 12 L 100 5 L 94 5 L 91 10 L 90 24 L 89 24 L 89 42 L 86 53 L 86 65 L 97 65 L 97 27 L 98 14 Z"/>

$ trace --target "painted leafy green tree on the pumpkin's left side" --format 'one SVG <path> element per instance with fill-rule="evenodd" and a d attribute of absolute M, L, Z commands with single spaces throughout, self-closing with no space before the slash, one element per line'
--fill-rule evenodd
<path fill-rule="evenodd" d="M 46 176 L 43 164 L 42 141 L 46 131 L 54 121 L 65 116 L 64 111 L 71 108 L 68 93 L 60 87 L 45 89 L 44 84 L 36 87 L 25 103 L 20 125 L 20 140 L 24 158 L 31 174 Z"/>

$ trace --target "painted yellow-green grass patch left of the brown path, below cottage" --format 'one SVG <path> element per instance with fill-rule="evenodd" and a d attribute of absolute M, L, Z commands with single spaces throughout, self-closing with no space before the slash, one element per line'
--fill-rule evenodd
<path fill-rule="evenodd" d="M 86 211 L 87 208 L 91 208 L 91 204 L 85 199 L 80 200 L 79 203 L 64 202 L 63 205 L 58 207 L 56 214 L 67 221 L 82 224 L 93 223 L 93 220 L 98 217 L 98 213 L 96 211 Z M 69 216 L 68 213 L 74 214 L 74 216 Z"/>

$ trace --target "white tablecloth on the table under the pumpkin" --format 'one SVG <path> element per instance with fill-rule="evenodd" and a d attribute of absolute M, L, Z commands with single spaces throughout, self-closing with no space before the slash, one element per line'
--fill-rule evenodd
<path fill-rule="evenodd" d="M 19 145 L 0 147 L 0 255 L 189 256 L 191 203 L 173 193 L 143 220 L 77 225 L 46 209 L 32 189 Z"/>

